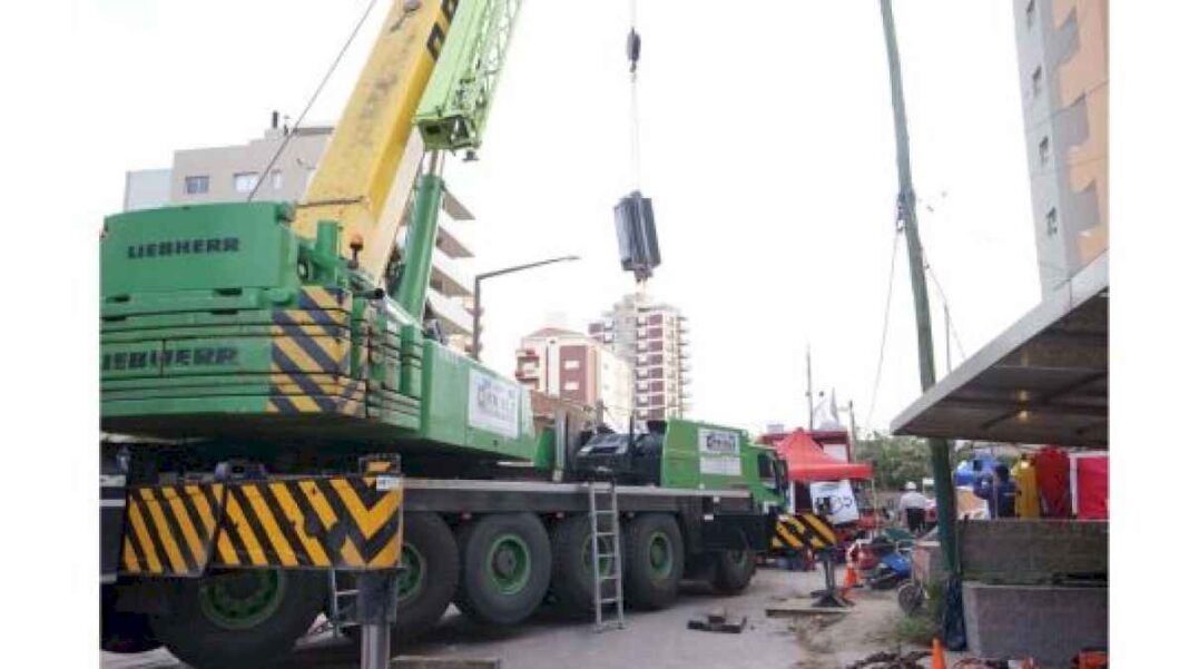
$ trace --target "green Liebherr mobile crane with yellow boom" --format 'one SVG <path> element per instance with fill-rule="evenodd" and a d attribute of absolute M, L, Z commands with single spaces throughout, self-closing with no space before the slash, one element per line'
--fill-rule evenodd
<path fill-rule="evenodd" d="M 106 220 L 106 649 L 259 667 L 320 613 L 376 624 L 351 583 L 397 564 L 401 638 L 452 601 L 622 621 L 682 578 L 747 587 L 784 497 L 766 449 L 680 419 L 539 427 L 427 317 L 441 166 L 482 143 L 518 10 L 395 2 L 296 206 Z"/>

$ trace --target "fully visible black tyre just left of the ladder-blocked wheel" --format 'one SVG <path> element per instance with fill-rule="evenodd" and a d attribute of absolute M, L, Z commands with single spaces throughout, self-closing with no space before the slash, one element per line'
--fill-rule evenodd
<path fill-rule="evenodd" d="M 511 535 L 527 547 L 526 582 L 501 592 L 493 581 L 489 551 L 498 537 Z M 549 589 L 553 563 L 549 535 L 533 513 L 492 513 L 458 532 L 461 569 L 454 604 L 467 618 L 489 625 L 515 625 L 533 614 Z"/>

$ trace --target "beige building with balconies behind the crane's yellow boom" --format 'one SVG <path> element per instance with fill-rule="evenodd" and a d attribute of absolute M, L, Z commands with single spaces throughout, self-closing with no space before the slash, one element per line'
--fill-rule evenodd
<path fill-rule="evenodd" d="M 124 208 L 131 212 L 170 204 L 243 201 L 260 179 L 256 200 L 300 204 L 332 133 L 333 128 L 326 126 L 295 131 L 270 127 L 264 137 L 247 144 L 175 151 L 171 168 L 127 172 Z M 287 137 L 289 144 L 284 152 L 263 175 Z M 414 133 L 410 141 L 420 143 L 419 135 Z M 471 346 L 471 310 L 474 307 L 473 276 L 466 266 L 473 254 L 465 242 L 465 221 L 474 217 L 449 191 L 442 210 L 447 215 L 439 219 L 427 302 L 449 345 L 465 352 Z M 398 246 L 404 244 L 407 232 L 408 226 L 403 226 Z"/>

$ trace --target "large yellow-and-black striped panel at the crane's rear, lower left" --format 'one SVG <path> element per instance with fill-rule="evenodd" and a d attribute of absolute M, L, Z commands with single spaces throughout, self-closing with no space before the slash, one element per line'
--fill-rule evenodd
<path fill-rule="evenodd" d="M 120 573 L 394 568 L 403 494 L 401 476 L 379 472 L 132 486 Z"/>

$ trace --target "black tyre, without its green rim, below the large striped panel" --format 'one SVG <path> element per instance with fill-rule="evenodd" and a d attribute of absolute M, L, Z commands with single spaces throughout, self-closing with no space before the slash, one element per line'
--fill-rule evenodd
<path fill-rule="evenodd" d="M 281 570 L 283 592 L 272 614 L 245 629 L 228 629 L 212 620 L 200 604 L 208 578 L 171 583 L 170 613 L 150 616 L 157 638 L 178 659 L 195 669 L 256 669 L 284 658 L 309 631 L 326 605 L 323 572 Z"/>

